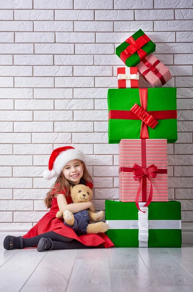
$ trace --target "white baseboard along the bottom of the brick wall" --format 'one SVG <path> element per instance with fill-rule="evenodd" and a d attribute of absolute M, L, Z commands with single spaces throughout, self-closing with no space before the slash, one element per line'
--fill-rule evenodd
<path fill-rule="evenodd" d="M 0 227 L 0 244 L 7 235 L 23 236 L 30 230 L 30 227 Z M 182 228 L 182 243 L 193 244 L 193 226 Z"/>

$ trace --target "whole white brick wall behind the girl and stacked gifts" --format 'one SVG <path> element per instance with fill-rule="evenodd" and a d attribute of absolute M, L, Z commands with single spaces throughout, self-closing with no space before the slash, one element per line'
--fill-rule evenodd
<path fill-rule="evenodd" d="M 169 198 L 193 225 L 193 4 L 188 0 L 0 1 L 0 227 L 32 226 L 53 180 L 56 147 L 88 154 L 93 202 L 118 199 L 118 145 L 108 144 L 115 48 L 141 28 L 178 87 L 178 141 L 168 145 Z M 141 86 L 147 86 L 142 79 Z"/>

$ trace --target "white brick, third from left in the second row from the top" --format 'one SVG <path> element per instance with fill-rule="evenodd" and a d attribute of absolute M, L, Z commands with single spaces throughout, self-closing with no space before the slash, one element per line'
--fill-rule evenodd
<path fill-rule="evenodd" d="M 96 14 L 95 14 L 96 19 Z M 55 20 L 94 20 L 93 10 L 55 10 Z M 98 20 L 98 19 L 96 19 Z"/>

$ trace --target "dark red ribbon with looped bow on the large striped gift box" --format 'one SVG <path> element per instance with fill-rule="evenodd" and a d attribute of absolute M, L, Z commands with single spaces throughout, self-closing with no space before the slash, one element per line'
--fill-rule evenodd
<path fill-rule="evenodd" d="M 158 167 L 154 164 L 150 165 L 147 167 L 146 165 L 146 140 L 141 140 L 141 165 L 134 164 L 133 167 L 120 167 L 119 168 L 119 173 L 120 172 L 133 172 L 134 174 L 134 179 L 136 181 L 140 180 L 140 186 L 136 195 L 135 203 L 138 208 L 138 210 L 141 211 L 140 206 L 139 206 L 139 198 L 140 198 L 140 192 L 142 190 L 142 201 L 146 202 L 144 207 L 148 207 L 149 204 L 152 201 L 153 198 L 153 185 L 151 182 L 151 178 L 156 178 L 157 174 L 167 173 L 167 169 L 158 169 Z M 147 200 L 147 180 L 150 182 L 150 192 L 149 192 L 149 197 Z M 141 211 L 145 213 L 144 211 Z"/>

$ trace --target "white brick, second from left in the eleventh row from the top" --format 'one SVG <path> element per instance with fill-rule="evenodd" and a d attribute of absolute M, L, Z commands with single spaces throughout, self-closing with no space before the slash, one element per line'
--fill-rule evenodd
<path fill-rule="evenodd" d="M 34 121 L 72 121 L 72 110 L 35 110 Z"/>

